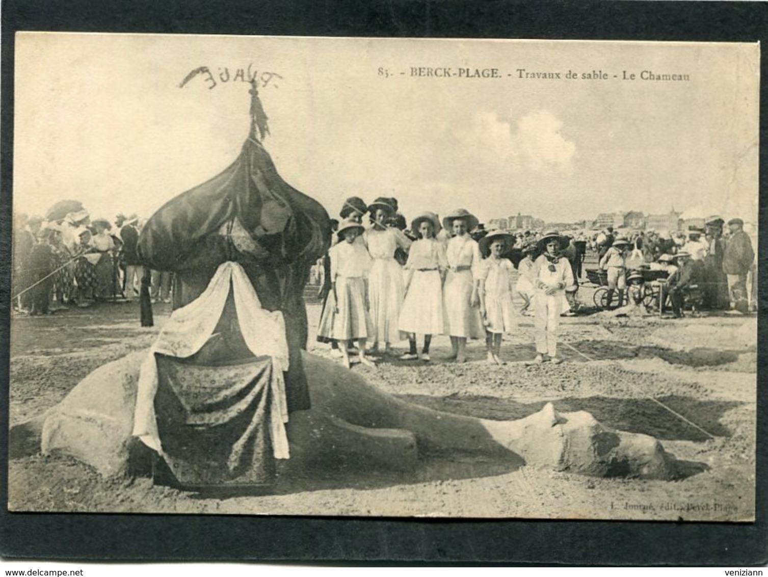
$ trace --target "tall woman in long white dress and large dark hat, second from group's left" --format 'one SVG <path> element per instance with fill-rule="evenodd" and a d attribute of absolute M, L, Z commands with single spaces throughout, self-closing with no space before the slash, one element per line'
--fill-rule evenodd
<path fill-rule="evenodd" d="M 402 269 L 395 259 L 398 248 L 408 250 L 411 241 L 395 227 L 387 226 L 395 217 L 396 207 L 392 199 L 379 197 L 368 210 L 373 226 L 363 234 L 363 240 L 373 259 L 368 276 L 368 298 L 373 322 L 373 350 L 378 353 L 379 343 L 384 343 L 384 353 L 392 354 L 390 343 L 402 340 L 398 329 L 400 304 L 405 293 Z"/>

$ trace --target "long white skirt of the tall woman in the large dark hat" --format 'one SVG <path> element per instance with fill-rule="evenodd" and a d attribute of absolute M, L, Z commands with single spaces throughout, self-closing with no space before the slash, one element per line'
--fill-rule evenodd
<path fill-rule="evenodd" d="M 394 343 L 406 338 L 398 329 L 404 293 L 402 268 L 397 260 L 394 257 L 374 259 L 368 275 L 368 298 L 373 323 L 373 333 L 369 336 L 376 342 Z"/>

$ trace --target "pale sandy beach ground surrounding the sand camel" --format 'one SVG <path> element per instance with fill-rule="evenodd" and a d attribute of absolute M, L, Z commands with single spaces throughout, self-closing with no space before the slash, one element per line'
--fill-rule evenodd
<path fill-rule="evenodd" d="M 581 300 L 591 302 L 587 288 Z M 139 326 L 137 303 L 14 317 L 10 423 L 55 405 L 101 364 L 148 347 L 170 305 L 155 305 L 154 310 L 152 328 Z M 310 324 L 316 326 L 319 307 L 310 305 L 308 310 Z M 9 463 L 9 507 L 62 512 L 753 519 L 756 318 L 592 315 L 562 321 L 565 362 L 559 366 L 525 364 L 535 354 L 533 323 L 531 317 L 520 317 L 518 331 L 505 336 L 502 345 L 504 366 L 488 364 L 480 342 L 470 343 L 468 363 L 452 363 L 445 360 L 448 337 L 435 337 L 431 363 L 385 358 L 376 369 L 353 365 L 353 370 L 413 403 L 488 419 L 527 416 L 547 401 L 557 410 L 587 410 L 608 426 L 656 436 L 667 452 L 687 463 L 690 476 L 673 482 L 594 479 L 480 456 L 440 456 L 422 459 L 416 472 L 407 475 L 360 469 L 296 475 L 281 470 L 276 489 L 268 495 L 208 496 L 153 486 L 147 478 L 105 480 L 74 459 L 38 455 Z M 310 342 L 309 348 L 329 356 L 326 345 Z"/>

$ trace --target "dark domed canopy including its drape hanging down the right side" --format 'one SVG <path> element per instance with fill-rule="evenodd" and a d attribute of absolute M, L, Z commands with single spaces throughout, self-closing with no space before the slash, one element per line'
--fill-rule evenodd
<path fill-rule="evenodd" d="M 330 236 L 326 210 L 286 184 L 263 145 L 247 138 L 230 167 L 175 197 L 147 221 L 137 253 L 141 264 L 174 272 L 174 309 L 204 293 L 220 264 L 240 264 L 261 307 L 283 313 L 290 356 L 288 410 L 306 410 L 303 289 Z"/>

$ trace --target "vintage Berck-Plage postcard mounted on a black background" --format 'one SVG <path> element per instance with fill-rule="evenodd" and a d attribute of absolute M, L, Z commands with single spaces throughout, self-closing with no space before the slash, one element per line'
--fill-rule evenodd
<path fill-rule="evenodd" d="M 755 518 L 760 48 L 18 33 L 8 509 Z"/>

